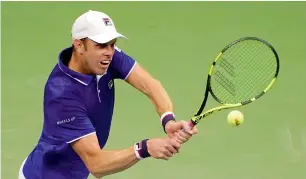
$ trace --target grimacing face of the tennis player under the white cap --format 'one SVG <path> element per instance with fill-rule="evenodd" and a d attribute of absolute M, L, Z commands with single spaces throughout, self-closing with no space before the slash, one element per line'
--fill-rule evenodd
<path fill-rule="evenodd" d="M 103 75 L 115 53 L 116 40 L 113 39 L 105 44 L 99 44 L 90 39 L 82 41 L 79 52 L 82 54 L 84 71 L 89 74 Z"/>

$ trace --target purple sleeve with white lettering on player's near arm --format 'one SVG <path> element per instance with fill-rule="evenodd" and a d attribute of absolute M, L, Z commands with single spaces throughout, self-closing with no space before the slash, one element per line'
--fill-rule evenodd
<path fill-rule="evenodd" d="M 48 101 L 45 104 L 45 119 L 48 133 L 58 141 L 71 143 L 95 133 L 85 104 L 74 96 L 56 97 Z"/>

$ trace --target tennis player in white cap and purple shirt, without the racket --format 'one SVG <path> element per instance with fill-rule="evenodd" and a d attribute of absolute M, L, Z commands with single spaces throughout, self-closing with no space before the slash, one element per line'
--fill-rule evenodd
<path fill-rule="evenodd" d="M 188 122 L 175 120 L 160 82 L 116 47 L 117 39 L 125 36 L 108 15 L 82 14 L 72 26 L 72 38 L 72 47 L 59 53 L 45 85 L 42 134 L 24 160 L 19 179 L 85 179 L 90 173 L 101 178 L 148 157 L 168 160 L 197 133 Z M 167 137 L 135 141 L 121 150 L 103 149 L 111 128 L 115 79 L 148 96 Z"/>

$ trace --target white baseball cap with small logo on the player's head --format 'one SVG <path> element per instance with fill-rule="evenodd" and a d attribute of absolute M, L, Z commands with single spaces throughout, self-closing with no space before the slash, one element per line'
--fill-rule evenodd
<path fill-rule="evenodd" d="M 72 25 L 72 39 L 89 38 L 97 43 L 107 43 L 115 38 L 126 38 L 117 32 L 113 20 L 105 13 L 89 10 Z"/>

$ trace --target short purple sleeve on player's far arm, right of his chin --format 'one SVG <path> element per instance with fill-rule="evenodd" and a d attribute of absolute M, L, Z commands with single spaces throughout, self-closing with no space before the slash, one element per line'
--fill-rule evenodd
<path fill-rule="evenodd" d="M 113 56 L 110 68 L 112 70 L 113 77 L 125 80 L 132 72 L 136 65 L 136 61 L 125 54 L 118 47 L 115 48 L 115 54 Z"/>

